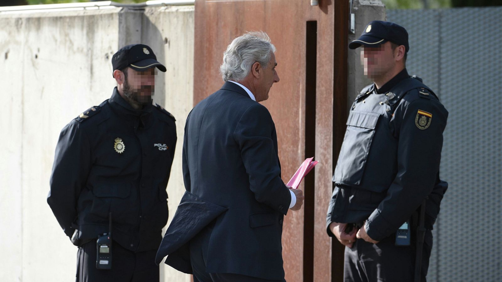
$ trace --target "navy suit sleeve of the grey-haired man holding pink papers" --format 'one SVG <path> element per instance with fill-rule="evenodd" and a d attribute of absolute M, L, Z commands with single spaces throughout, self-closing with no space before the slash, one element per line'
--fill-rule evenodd
<path fill-rule="evenodd" d="M 255 199 L 286 214 L 291 193 L 280 177 L 276 129 L 267 108 L 250 106 L 238 121 L 233 137 Z"/>

